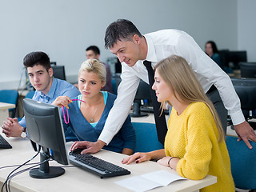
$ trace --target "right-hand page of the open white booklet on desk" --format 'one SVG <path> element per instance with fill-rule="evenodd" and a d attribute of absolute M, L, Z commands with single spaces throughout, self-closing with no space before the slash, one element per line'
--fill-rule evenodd
<path fill-rule="evenodd" d="M 178 174 L 172 174 L 166 170 L 158 170 L 148 174 L 142 174 L 141 177 L 147 178 L 154 182 L 158 182 L 162 186 L 168 186 L 171 182 L 175 182 L 180 179 L 187 179 L 182 178 Z"/>

